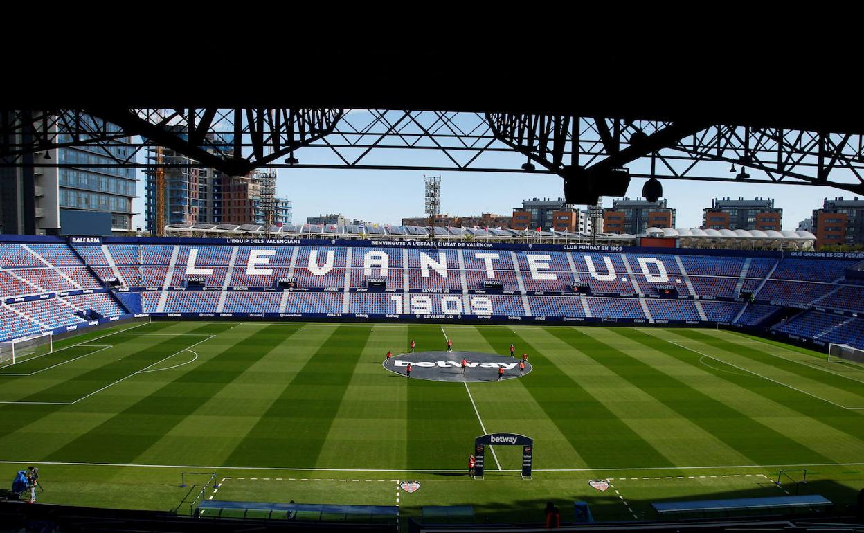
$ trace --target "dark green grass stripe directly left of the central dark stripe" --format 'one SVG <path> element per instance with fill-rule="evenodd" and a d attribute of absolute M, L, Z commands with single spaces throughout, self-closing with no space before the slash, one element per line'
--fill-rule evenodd
<path fill-rule="evenodd" d="M 370 330 L 335 328 L 240 441 L 226 464 L 314 466 Z M 290 446 L 286 446 L 286 439 Z"/>

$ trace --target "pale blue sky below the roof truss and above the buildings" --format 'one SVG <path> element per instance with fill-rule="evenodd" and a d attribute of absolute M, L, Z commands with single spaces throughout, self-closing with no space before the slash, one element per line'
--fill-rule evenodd
<path fill-rule="evenodd" d="M 303 162 L 304 149 L 296 152 Z M 416 164 L 415 151 L 403 150 L 393 164 Z M 411 163 L 413 162 L 413 163 Z M 647 173 L 646 163 L 630 165 L 634 173 Z M 724 163 L 716 168 L 721 176 L 728 175 Z M 294 221 L 305 222 L 307 217 L 323 213 L 341 213 L 351 219 L 398 224 L 403 217 L 422 216 L 423 176 L 414 170 L 348 170 L 280 168 L 277 194 L 289 198 L 294 205 Z M 435 174 L 435 173 L 429 173 Z M 528 198 L 558 198 L 563 196 L 562 179 L 550 174 L 513 174 L 480 172 L 442 172 L 442 212 L 451 215 L 480 213 L 510 214 L 513 206 Z M 143 173 L 139 173 L 143 176 Z M 731 196 L 753 199 L 760 196 L 774 198 L 781 207 L 783 228 L 794 230 L 798 221 L 809 217 L 812 210 L 822 206 L 823 198 L 842 196 L 843 191 L 832 187 L 804 187 L 792 185 L 745 184 L 718 181 L 662 180 L 664 197 L 670 207 L 677 209 L 678 227 L 696 227 L 702 224 L 702 208 L 711 205 L 713 198 Z M 627 194 L 638 197 L 644 180 L 633 179 Z M 143 195 L 139 181 L 138 194 Z M 848 198 L 852 194 L 845 193 Z M 605 206 L 612 205 L 607 197 Z M 137 212 L 143 212 L 143 198 L 134 203 Z M 133 221 L 143 227 L 143 215 Z"/>

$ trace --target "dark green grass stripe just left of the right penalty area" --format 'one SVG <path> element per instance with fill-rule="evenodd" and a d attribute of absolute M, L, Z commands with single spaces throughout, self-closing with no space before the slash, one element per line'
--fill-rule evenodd
<path fill-rule="evenodd" d="M 615 333 L 689 365 L 694 363 L 692 352 L 672 345 L 664 339 L 626 328 L 618 329 Z M 752 459 L 753 464 L 831 461 L 823 454 L 805 446 L 804 443 L 791 439 L 733 409 L 722 401 L 723 398 L 709 397 L 682 380 L 658 371 L 653 365 L 648 365 L 612 346 L 603 344 L 600 340 L 597 340 L 597 343 L 599 347 L 605 346 L 607 354 L 611 356 L 612 360 L 607 366 L 622 372 L 622 375 L 625 375 L 634 386 L 642 388 L 651 396 L 666 403 L 670 409 L 675 409 L 681 416 L 710 431 L 716 438 Z M 708 366 L 702 365 L 699 368 L 732 383 L 735 382 L 735 378 L 745 378 Z M 747 379 L 746 384 L 742 384 L 750 390 L 753 390 L 753 385 L 753 379 Z M 734 393 L 732 390 L 729 392 Z"/>

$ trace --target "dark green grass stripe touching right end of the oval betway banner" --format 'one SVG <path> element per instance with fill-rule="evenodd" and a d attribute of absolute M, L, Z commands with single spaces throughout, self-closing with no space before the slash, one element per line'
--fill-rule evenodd
<path fill-rule="evenodd" d="M 513 333 L 519 352 L 529 354 L 531 373 L 520 378 L 550 421 L 591 466 L 674 466 L 600 400 L 570 378 L 554 360 L 531 345 L 529 332 L 509 328 L 502 333 L 481 328 L 492 346 L 509 346 Z"/>

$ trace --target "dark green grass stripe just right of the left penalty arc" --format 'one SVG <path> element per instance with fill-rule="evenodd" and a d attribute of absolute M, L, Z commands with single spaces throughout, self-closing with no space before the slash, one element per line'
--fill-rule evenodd
<path fill-rule="evenodd" d="M 207 328 L 210 329 L 210 328 Z M 227 329 L 227 328 L 226 328 Z M 194 330 L 199 333 L 200 329 Z M 206 330 L 203 330 L 206 331 Z M 85 435 L 55 450 L 47 458 L 57 461 L 132 462 L 171 428 L 198 409 L 232 381 L 232 376 L 253 365 L 262 354 L 283 341 L 295 328 L 276 332 L 250 332 L 190 371 L 181 373 L 136 403 L 132 403 Z M 203 339 L 203 338 L 202 338 Z M 177 339 L 174 351 L 177 351 Z"/>

